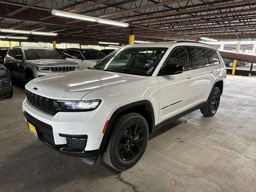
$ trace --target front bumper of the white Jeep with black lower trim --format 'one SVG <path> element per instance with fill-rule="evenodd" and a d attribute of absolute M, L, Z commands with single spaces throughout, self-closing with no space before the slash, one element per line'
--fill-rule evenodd
<path fill-rule="evenodd" d="M 38 139 L 54 150 L 72 156 L 99 156 L 108 111 L 98 107 L 89 112 L 58 112 L 52 116 L 26 99 L 22 106 L 26 121 L 36 127 Z"/>

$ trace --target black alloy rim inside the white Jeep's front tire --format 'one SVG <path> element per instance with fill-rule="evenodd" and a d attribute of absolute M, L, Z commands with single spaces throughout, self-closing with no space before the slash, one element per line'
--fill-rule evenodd
<path fill-rule="evenodd" d="M 144 132 L 138 124 L 129 126 L 121 135 L 118 154 L 124 161 L 132 160 L 142 148 Z"/>

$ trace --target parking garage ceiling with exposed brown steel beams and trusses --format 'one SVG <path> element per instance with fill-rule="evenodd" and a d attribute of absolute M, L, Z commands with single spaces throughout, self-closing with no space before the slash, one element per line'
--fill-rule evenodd
<path fill-rule="evenodd" d="M 126 22 L 128 27 L 54 16 L 51 10 Z M 32 42 L 99 41 L 128 44 L 136 40 L 256 40 L 255 0 L 1 0 L 0 28 L 56 32 L 25 36 Z"/>

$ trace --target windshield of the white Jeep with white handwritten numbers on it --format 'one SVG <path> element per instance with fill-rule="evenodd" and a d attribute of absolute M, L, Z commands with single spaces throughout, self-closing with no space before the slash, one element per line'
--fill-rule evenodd
<path fill-rule="evenodd" d="M 151 76 L 168 48 L 120 48 L 98 62 L 94 69 Z"/>

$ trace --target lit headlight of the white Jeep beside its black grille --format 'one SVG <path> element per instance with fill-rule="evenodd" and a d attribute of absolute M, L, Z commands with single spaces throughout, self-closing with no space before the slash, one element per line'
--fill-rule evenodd
<path fill-rule="evenodd" d="M 90 100 L 90 101 L 56 101 L 58 106 L 62 110 L 84 110 L 84 111 L 91 111 L 96 109 L 101 100 Z"/>

